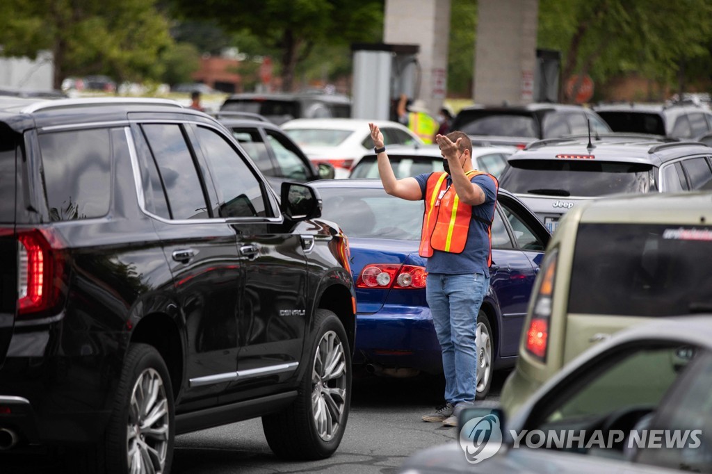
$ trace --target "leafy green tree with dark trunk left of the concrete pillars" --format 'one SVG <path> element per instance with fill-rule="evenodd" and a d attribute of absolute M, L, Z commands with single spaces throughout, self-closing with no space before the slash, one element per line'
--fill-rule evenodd
<path fill-rule="evenodd" d="M 283 89 L 319 43 L 382 41 L 384 0 L 172 0 L 184 19 L 214 19 L 226 32 L 249 31 L 278 51 Z"/>

